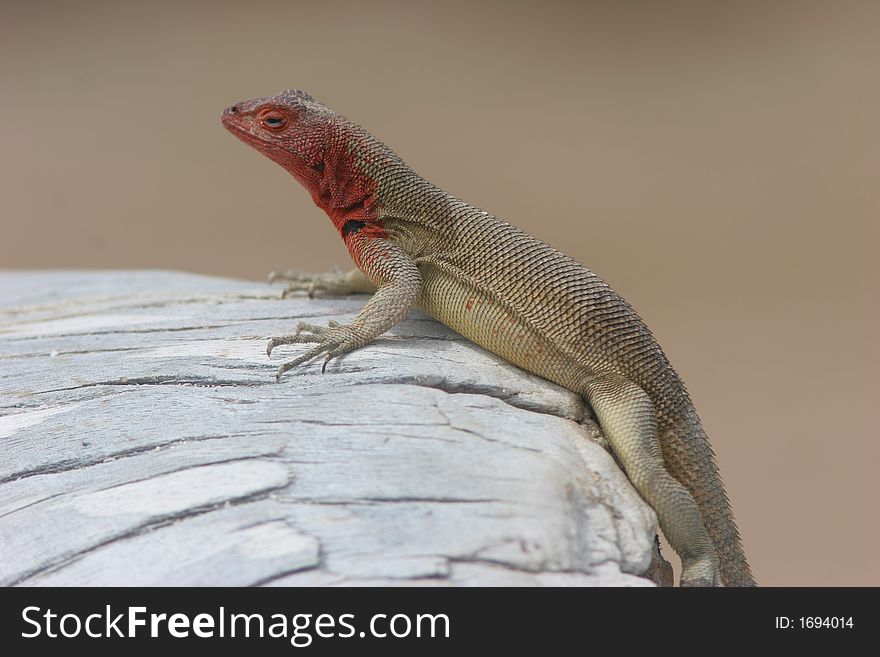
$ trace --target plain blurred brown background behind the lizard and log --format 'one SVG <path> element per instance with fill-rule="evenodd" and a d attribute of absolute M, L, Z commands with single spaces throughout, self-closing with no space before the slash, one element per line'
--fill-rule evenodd
<path fill-rule="evenodd" d="M 347 266 L 219 123 L 307 89 L 638 308 L 759 582 L 880 584 L 880 3 L 0 7 L 0 267 Z"/>

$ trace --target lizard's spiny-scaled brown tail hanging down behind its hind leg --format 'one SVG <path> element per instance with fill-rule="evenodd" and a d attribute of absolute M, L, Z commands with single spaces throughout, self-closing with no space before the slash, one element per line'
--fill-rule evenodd
<path fill-rule="evenodd" d="M 669 473 L 693 495 L 715 545 L 725 586 L 756 586 L 746 560 L 715 453 L 692 404 L 671 426 L 660 417 L 660 446 Z"/>

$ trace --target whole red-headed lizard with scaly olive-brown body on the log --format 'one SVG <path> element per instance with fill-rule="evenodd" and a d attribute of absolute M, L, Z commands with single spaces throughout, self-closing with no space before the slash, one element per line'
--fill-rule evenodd
<path fill-rule="evenodd" d="M 300 322 L 278 369 L 363 347 L 418 307 L 501 358 L 581 395 L 682 561 L 682 586 L 754 586 L 714 452 L 653 334 L 599 276 L 435 186 L 302 90 L 228 107 L 223 126 L 311 194 L 357 269 L 290 289 L 372 292 L 353 321 Z M 285 276 L 276 276 L 285 278 Z M 322 368 L 322 371 L 323 371 Z"/>

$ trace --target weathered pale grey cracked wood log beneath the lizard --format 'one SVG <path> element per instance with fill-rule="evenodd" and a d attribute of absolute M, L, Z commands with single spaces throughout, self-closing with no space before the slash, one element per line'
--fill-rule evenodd
<path fill-rule="evenodd" d="M 638 585 L 656 519 L 578 398 L 412 313 L 275 383 L 363 297 L 0 272 L 0 583 Z"/>

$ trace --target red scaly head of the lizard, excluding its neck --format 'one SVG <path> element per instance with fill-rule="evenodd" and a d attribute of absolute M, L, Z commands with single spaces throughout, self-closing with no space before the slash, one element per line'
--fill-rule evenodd
<path fill-rule="evenodd" d="M 271 98 L 236 103 L 223 111 L 221 121 L 229 132 L 287 169 L 314 194 L 337 118 L 305 91 L 289 89 Z"/>

